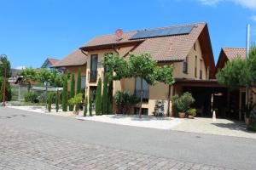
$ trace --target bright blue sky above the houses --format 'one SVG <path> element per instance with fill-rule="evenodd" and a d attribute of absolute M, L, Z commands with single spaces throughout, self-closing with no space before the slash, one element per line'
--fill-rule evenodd
<path fill-rule="evenodd" d="M 0 54 L 13 68 L 61 59 L 92 37 L 207 22 L 215 61 L 221 47 L 256 42 L 256 0 L 0 0 Z"/>

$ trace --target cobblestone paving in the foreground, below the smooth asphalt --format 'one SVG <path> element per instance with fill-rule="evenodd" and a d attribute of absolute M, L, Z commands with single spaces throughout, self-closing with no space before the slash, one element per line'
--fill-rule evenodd
<path fill-rule="evenodd" d="M 0 127 L 0 169 L 224 169 Z"/>

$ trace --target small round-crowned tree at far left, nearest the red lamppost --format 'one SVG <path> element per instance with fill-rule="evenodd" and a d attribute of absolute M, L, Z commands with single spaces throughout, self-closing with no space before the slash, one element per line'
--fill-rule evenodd
<path fill-rule="evenodd" d="M 37 71 L 32 68 L 26 68 L 23 69 L 19 75 L 22 77 L 22 81 L 27 84 L 27 91 L 30 92 L 30 89 L 32 88 L 32 82 L 38 79 Z"/>

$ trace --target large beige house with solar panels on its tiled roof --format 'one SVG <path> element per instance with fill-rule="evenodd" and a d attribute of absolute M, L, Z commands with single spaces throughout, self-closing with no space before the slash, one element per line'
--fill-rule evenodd
<path fill-rule="evenodd" d="M 164 83 L 148 86 L 147 82 L 143 82 L 143 114 L 145 115 L 153 114 L 158 100 L 164 101 L 166 108 L 168 96 L 172 97 L 184 91 L 191 91 L 195 94 L 196 100 L 201 100 L 201 103 L 195 105 L 197 108 L 202 110 L 204 105 L 207 105 L 208 110 L 211 110 L 211 96 L 216 93 L 215 87 L 221 87 L 216 80 L 210 80 L 214 78 L 215 65 L 207 23 L 129 31 L 125 32 L 121 38 L 114 34 L 95 37 L 80 49 L 88 55 L 87 95 L 90 91 L 96 91 L 99 77 L 103 79 L 104 68 L 101 61 L 106 54 L 119 54 L 127 58 L 129 53 L 148 53 L 158 62 L 158 65 L 174 66 L 173 76 L 177 82 L 172 87 L 169 88 Z M 128 90 L 132 94 L 137 94 L 140 89 L 138 82 L 139 77 L 115 81 L 113 94 L 118 90 Z M 210 90 L 209 87 L 211 87 Z M 205 95 L 207 98 L 204 97 Z M 172 103 L 169 109 L 170 113 L 166 114 L 174 116 Z M 137 106 L 134 111 L 138 111 Z"/>

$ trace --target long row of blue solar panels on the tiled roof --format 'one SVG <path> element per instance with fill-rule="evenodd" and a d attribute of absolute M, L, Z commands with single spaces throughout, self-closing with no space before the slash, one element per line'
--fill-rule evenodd
<path fill-rule="evenodd" d="M 194 26 L 183 26 L 183 27 L 172 27 L 158 30 L 146 30 L 139 31 L 137 34 L 133 35 L 130 39 L 141 39 L 146 37 L 164 37 L 173 36 L 181 34 L 189 34 Z"/>

